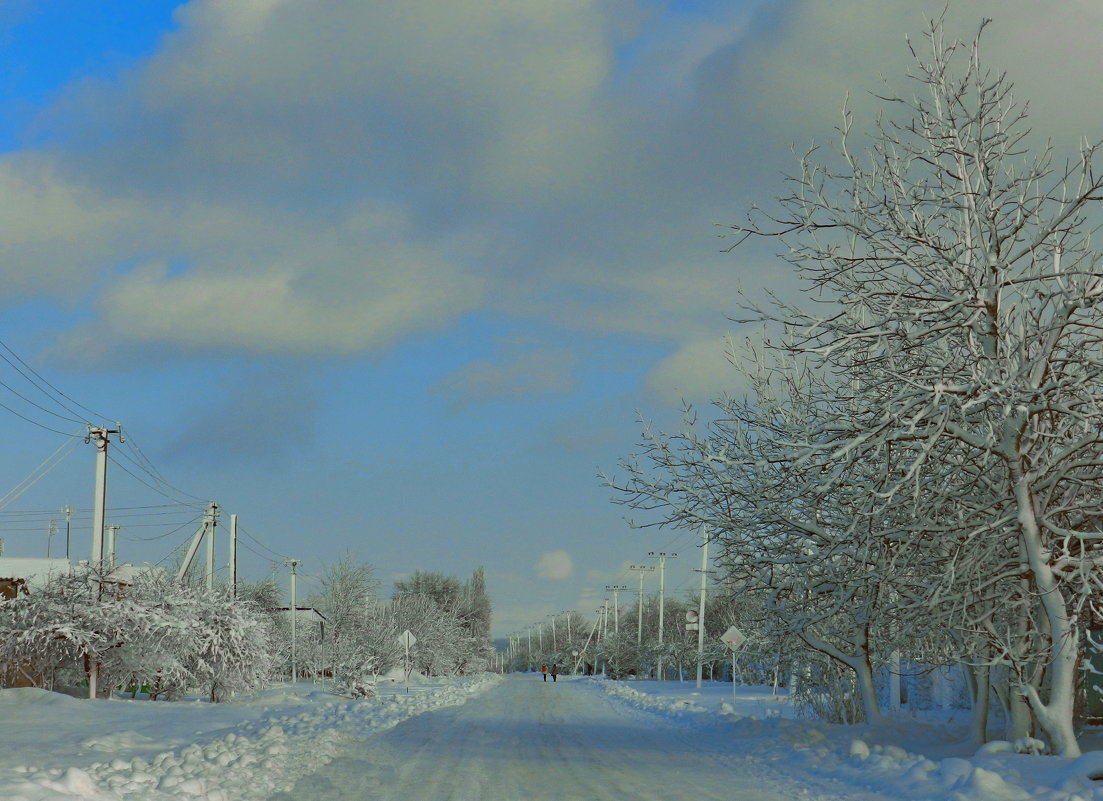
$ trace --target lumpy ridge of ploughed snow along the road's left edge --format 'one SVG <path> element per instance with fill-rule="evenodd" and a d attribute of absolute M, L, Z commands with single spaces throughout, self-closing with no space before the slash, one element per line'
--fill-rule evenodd
<path fill-rule="evenodd" d="M 298 715 L 274 714 L 149 760 L 117 758 L 65 770 L 23 766 L 0 772 L 0 794 L 6 801 L 261 801 L 333 761 L 351 739 L 463 704 L 500 681 L 486 673 L 410 695 L 334 701 Z"/>

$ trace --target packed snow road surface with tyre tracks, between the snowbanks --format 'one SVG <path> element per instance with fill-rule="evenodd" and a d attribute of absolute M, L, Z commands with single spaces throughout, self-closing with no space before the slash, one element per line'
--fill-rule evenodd
<path fill-rule="evenodd" d="M 368 737 L 272 801 L 792 801 L 781 777 L 592 683 L 511 676 Z M 778 789 L 770 789 L 771 787 Z"/>

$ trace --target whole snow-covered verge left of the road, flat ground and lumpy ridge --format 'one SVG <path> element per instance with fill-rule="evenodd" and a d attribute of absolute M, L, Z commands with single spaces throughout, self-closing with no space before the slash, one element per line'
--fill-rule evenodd
<path fill-rule="evenodd" d="M 25 723 L 2 755 L 0 798 L 260 801 L 331 761 L 344 744 L 462 704 L 497 681 L 491 674 L 437 680 L 408 694 L 381 682 L 377 697 L 357 701 L 312 685 L 286 686 L 217 705 L 4 690 L 0 716 Z M 192 728 L 196 724 L 202 728 Z"/>

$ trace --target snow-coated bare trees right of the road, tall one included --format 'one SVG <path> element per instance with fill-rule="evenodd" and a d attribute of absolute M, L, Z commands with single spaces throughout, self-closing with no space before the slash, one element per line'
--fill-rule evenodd
<path fill-rule="evenodd" d="M 934 21 L 864 146 L 845 113 L 735 227 L 783 244 L 810 302 L 745 300 L 747 395 L 645 430 L 609 481 L 646 524 L 707 526 L 747 624 L 849 674 L 867 720 L 903 652 L 967 668 L 979 739 L 995 695 L 1011 737 L 1075 756 L 1103 598 L 1103 174 L 1094 146 L 1031 151 L 981 39 Z"/>

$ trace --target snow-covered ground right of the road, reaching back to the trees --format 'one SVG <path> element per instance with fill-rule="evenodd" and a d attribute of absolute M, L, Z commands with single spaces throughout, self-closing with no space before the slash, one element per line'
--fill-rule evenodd
<path fill-rule="evenodd" d="M 888 719 L 876 730 L 796 719 L 784 691 L 706 682 L 593 681 L 634 708 L 688 728 L 715 730 L 732 749 L 810 782 L 834 780 L 855 791 L 915 801 L 1103 801 L 1103 733 L 1081 737 L 1080 759 L 1015 754 L 1009 743 L 977 749 L 965 712 Z"/>

